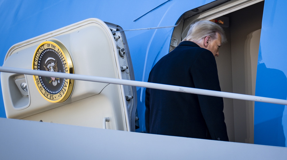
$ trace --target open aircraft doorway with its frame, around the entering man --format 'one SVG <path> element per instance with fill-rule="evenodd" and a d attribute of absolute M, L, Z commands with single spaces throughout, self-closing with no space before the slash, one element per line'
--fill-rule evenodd
<path fill-rule="evenodd" d="M 172 51 L 187 35 L 192 23 L 217 22 L 227 42 L 216 57 L 221 90 L 255 95 L 256 71 L 264 1 L 229 1 L 216 7 L 210 4 L 185 12 L 174 28 Z M 230 141 L 254 143 L 254 102 L 224 99 L 224 115 Z"/>

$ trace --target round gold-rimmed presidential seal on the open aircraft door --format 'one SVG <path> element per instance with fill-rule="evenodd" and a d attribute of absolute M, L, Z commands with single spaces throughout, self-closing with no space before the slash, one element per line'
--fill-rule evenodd
<path fill-rule="evenodd" d="M 33 70 L 74 73 L 73 63 L 67 49 L 58 41 L 42 42 L 33 57 Z M 49 102 L 64 102 L 73 90 L 74 80 L 33 76 L 40 94 Z"/>

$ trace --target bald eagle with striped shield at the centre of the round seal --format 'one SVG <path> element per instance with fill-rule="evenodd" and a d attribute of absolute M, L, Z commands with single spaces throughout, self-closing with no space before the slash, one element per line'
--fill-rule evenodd
<path fill-rule="evenodd" d="M 58 61 L 55 58 L 49 57 L 44 63 L 44 68 L 46 71 L 58 72 L 57 63 Z M 46 81 L 50 84 L 53 84 L 53 86 L 56 86 L 58 83 L 60 83 L 60 78 L 51 77 L 51 79 L 49 79 L 48 77 L 46 77 Z"/>

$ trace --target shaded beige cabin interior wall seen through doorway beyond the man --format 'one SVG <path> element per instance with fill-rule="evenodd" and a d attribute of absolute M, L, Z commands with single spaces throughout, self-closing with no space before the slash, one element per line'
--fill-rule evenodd
<path fill-rule="evenodd" d="M 248 39 L 252 36 L 251 32 L 261 29 L 263 5 L 263 2 L 256 3 L 226 15 L 230 20 L 230 27 L 224 28 L 228 43 L 220 48 L 220 56 L 216 58 L 220 86 L 224 92 L 254 95 L 255 84 L 250 82 L 256 78 L 257 58 L 254 57 L 258 56 L 259 41 L 257 45 L 250 46 Z M 247 47 L 257 50 L 256 55 L 247 54 Z M 253 143 L 253 103 L 237 99 L 232 101 L 224 99 L 224 115 L 230 141 Z M 232 122 L 233 126 L 230 124 Z"/>

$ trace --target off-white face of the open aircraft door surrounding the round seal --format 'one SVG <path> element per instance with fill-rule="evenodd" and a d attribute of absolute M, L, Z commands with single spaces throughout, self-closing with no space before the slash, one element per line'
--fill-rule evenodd
<path fill-rule="evenodd" d="M 71 56 L 75 74 L 122 78 L 114 36 L 106 23 L 95 18 L 15 44 L 8 51 L 3 66 L 32 69 L 34 52 L 46 40 L 57 40 L 65 46 Z M 19 75 L 1 72 L 7 118 L 102 128 L 102 118 L 109 116 L 111 121 L 107 126 L 110 129 L 129 130 L 123 86 L 75 80 L 71 96 L 65 102 L 51 103 L 40 95 L 30 75 L 25 79 L 29 95 L 22 95 L 19 89 L 16 90 L 14 81 Z M 106 90 L 110 93 L 106 93 Z M 15 94 L 22 97 L 15 98 Z M 96 97 L 98 94 L 98 97 L 104 98 Z M 63 107 L 57 108 L 59 106 Z M 96 119 L 100 119 L 100 123 L 95 122 Z"/>

